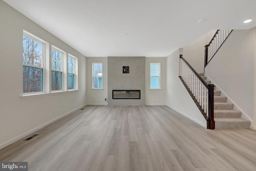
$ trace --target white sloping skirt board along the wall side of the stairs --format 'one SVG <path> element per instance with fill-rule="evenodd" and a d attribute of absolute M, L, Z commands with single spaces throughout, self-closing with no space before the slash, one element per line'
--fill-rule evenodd
<path fill-rule="evenodd" d="M 218 84 L 216 84 L 214 81 L 212 81 L 212 79 L 211 79 L 208 75 L 206 75 L 206 76 L 207 76 L 207 80 L 210 80 L 210 81 L 212 82 L 212 84 L 214 84 L 214 85 L 216 86 L 216 90 L 220 90 L 220 91 L 221 91 L 221 95 L 227 97 L 227 103 L 233 103 L 233 104 L 234 104 L 233 109 L 242 112 L 241 118 L 247 119 L 247 120 L 249 120 L 249 121 L 251 122 L 250 128 L 251 128 L 251 129 L 256 129 L 256 126 L 254 126 L 253 120 L 252 120 L 250 117 L 248 117 L 248 115 L 241 109 L 241 107 L 239 107 L 239 105 L 237 105 L 236 102 L 234 102 L 234 101 L 218 86 Z"/>

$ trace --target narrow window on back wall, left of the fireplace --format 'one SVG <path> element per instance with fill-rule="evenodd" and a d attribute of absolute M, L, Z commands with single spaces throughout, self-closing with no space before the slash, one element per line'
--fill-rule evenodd
<path fill-rule="evenodd" d="M 102 63 L 92 63 L 92 88 L 102 88 Z"/>

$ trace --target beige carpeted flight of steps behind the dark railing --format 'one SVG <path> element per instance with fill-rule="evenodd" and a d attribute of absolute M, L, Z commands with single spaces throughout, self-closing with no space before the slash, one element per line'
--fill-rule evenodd
<path fill-rule="evenodd" d="M 199 74 L 207 84 L 211 84 L 210 80 Z M 233 110 L 234 104 L 227 103 L 227 97 L 221 96 L 221 91 L 215 90 L 214 87 L 214 121 L 215 128 L 249 128 L 250 121 L 241 118 L 241 111 Z"/>

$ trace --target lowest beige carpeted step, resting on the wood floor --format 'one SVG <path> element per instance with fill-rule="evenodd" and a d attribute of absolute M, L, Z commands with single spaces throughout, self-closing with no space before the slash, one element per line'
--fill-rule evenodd
<path fill-rule="evenodd" d="M 249 128 L 250 121 L 242 118 L 215 118 L 215 128 Z"/>

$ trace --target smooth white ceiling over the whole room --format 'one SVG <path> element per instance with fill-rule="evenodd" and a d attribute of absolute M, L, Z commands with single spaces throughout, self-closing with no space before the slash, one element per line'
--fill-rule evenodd
<path fill-rule="evenodd" d="M 256 0 L 4 1 L 87 57 L 166 57 L 210 30 L 256 26 Z"/>

